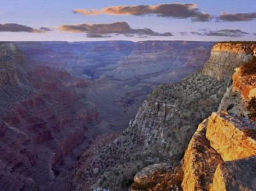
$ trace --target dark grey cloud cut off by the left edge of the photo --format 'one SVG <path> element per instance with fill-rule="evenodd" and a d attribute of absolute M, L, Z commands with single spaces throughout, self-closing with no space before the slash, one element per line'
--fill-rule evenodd
<path fill-rule="evenodd" d="M 40 29 L 34 29 L 32 27 L 15 24 L 15 23 L 0 24 L 0 32 L 45 33 L 47 31 L 51 31 L 51 29 L 46 27 L 41 27 Z"/>

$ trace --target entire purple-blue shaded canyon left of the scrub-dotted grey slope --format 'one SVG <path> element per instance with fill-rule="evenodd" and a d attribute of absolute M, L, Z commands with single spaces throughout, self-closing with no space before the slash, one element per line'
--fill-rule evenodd
<path fill-rule="evenodd" d="M 212 45 L 1 42 L 1 188 L 76 189 L 80 159 L 118 137 L 152 88 L 202 68 Z"/>

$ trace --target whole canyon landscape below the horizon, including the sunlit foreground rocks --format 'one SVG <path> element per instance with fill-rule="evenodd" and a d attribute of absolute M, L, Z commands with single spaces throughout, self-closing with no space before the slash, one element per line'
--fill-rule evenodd
<path fill-rule="evenodd" d="M 1 189 L 256 190 L 256 43 L 213 44 L 1 42 Z"/>

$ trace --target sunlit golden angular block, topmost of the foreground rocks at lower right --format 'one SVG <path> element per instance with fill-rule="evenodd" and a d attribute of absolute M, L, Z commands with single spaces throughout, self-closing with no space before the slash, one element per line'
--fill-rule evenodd
<path fill-rule="evenodd" d="M 248 118 L 212 113 L 206 137 L 224 161 L 256 155 L 256 123 Z"/>

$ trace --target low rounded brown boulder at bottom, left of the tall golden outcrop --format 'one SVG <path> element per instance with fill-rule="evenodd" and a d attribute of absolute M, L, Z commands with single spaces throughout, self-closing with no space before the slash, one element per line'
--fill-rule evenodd
<path fill-rule="evenodd" d="M 154 164 L 145 167 L 134 176 L 131 191 L 179 190 L 182 180 L 180 167 L 170 164 Z"/>

